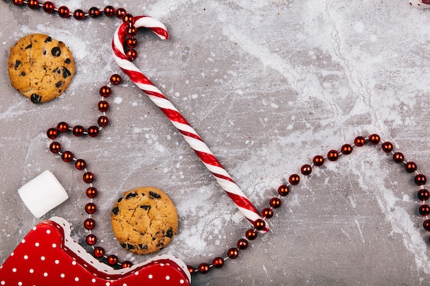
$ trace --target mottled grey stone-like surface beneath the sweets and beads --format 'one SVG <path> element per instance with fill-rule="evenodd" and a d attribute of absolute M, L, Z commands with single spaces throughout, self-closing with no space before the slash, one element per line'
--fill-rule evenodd
<path fill-rule="evenodd" d="M 258 208 L 309 163 L 355 136 L 378 133 L 430 174 L 430 11 L 405 0 L 60 1 L 71 10 L 115 5 L 166 24 L 170 40 L 139 31 L 135 64 L 165 93 Z M 47 150 L 59 121 L 93 125 L 98 88 L 119 73 L 111 38 L 120 21 L 60 19 L 0 2 L 0 263 L 41 219 L 73 224 L 84 241 L 82 172 Z M 9 49 L 45 33 L 76 60 L 69 89 L 35 105 L 10 86 Z M 122 74 L 122 73 L 121 73 Z M 155 186 L 177 205 L 179 233 L 163 253 L 188 264 L 225 256 L 247 222 L 179 132 L 130 80 L 113 88 L 111 125 L 96 139 L 62 136 L 96 176 L 94 233 L 133 263 L 110 226 L 124 191 Z M 45 169 L 69 200 L 36 219 L 17 190 Z M 380 148 L 355 148 L 293 187 L 260 236 L 223 270 L 193 285 L 429 285 L 428 233 L 413 176 Z M 82 243 L 83 244 L 83 243 Z"/>

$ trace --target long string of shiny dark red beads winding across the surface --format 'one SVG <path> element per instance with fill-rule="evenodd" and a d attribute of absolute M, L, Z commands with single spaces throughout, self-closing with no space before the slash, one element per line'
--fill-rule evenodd
<path fill-rule="evenodd" d="M 43 3 L 39 3 L 37 0 L 12 0 L 12 3 L 17 6 L 27 5 L 32 10 L 38 10 L 39 8 L 43 8 L 45 12 L 48 14 L 54 14 L 56 12 L 58 16 L 61 18 L 67 19 L 73 16 L 76 20 L 84 20 L 87 17 L 97 18 L 104 14 L 108 17 L 116 16 L 118 19 L 121 19 L 124 23 L 128 23 L 126 46 L 128 50 L 126 51 L 126 57 L 128 60 L 135 60 L 137 58 L 137 51 L 135 51 L 135 47 L 137 47 L 137 40 L 134 36 L 137 34 L 137 28 L 133 26 L 133 15 L 128 14 L 124 8 L 113 8 L 111 5 L 107 5 L 101 12 L 99 8 L 90 8 L 87 13 L 83 10 L 74 10 L 71 12 L 67 6 L 60 6 L 56 8 L 54 3 L 51 1 L 45 1 Z M 75 158 L 73 153 L 70 151 L 63 151 L 62 146 L 58 141 L 54 141 L 60 136 L 60 134 L 67 134 L 71 132 L 74 136 L 89 136 L 90 138 L 94 138 L 98 136 L 100 131 L 103 128 L 109 126 L 109 119 L 106 117 L 106 112 L 109 110 L 109 102 L 106 102 L 107 97 L 110 97 L 112 94 L 111 86 L 116 86 L 120 84 L 122 78 L 120 75 L 113 74 L 109 79 L 109 83 L 100 87 L 99 94 L 102 97 L 102 100 L 98 102 L 98 110 L 102 112 L 102 115 L 98 117 L 97 126 L 89 126 L 88 128 L 84 128 L 80 125 L 77 126 L 69 126 L 68 123 L 61 121 L 56 126 L 49 128 L 46 132 L 48 139 L 50 139 L 51 143 L 49 145 L 49 150 L 54 153 L 60 155 L 60 158 L 65 163 L 74 163 L 74 166 L 78 170 L 82 170 L 84 172 L 82 176 L 82 180 L 89 184 L 89 187 L 86 189 L 87 197 L 90 199 L 90 202 L 87 203 L 84 207 L 86 213 L 88 214 L 87 219 L 84 220 L 84 228 L 89 231 L 89 235 L 87 235 L 85 241 L 91 246 L 93 250 L 93 256 L 100 261 L 106 263 L 107 265 L 111 265 L 111 267 L 117 268 L 125 268 L 131 267 L 132 263 L 130 261 L 120 262 L 119 259 L 113 254 L 106 254 L 104 248 L 101 246 L 96 246 L 98 239 L 95 235 L 93 235 L 92 230 L 95 228 L 95 220 L 93 219 L 93 214 L 97 210 L 97 206 L 94 204 L 93 199 L 97 196 L 98 190 L 93 186 L 93 181 L 95 180 L 95 175 L 88 171 L 87 162 L 81 158 Z M 354 139 L 354 142 L 351 144 L 344 144 L 341 146 L 340 150 L 330 150 L 326 154 L 326 156 L 317 155 L 313 157 L 312 163 L 302 165 L 300 168 L 300 174 L 302 176 L 310 176 L 313 172 L 313 168 L 321 167 L 326 163 L 326 160 L 335 162 L 343 155 L 349 155 L 352 153 L 354 147 L 362 147 L 364 145 L 380 145 L 381 138 L 378 134 L 371 134 L 367 138 L 363 136 L 357 136 Z M 386 154 L 391 154 L 392 159 L 395 163 L 399 165 L 403 165 L 405 171 L 410 174 L 414 174 L 414 182 L 419 187 L 417 197 L 420 200 L 421 204 L 418 208 L 418 212 L 425 219 L 423 222 L 423 228 L 427 231 L 430 231 L 430 219 L 428 215 L 430 215 L 430 206 L 426 203 L 430 198 L 430 192 L 425 189 L 425 184 L 427 183 L 427 178 L 424 174 L 420 174 L 418 171 L 418 167 L 416 163 L 412 161 L 408 161 L 405 159 L 405 156 L 400 152 L 394 152 L 394 146 L 390 142 L 381 143 L 381 149 Z M 245 231 L 245 238 L 241 238 L 237 241 L 236 246 L 229 248 L 227 250 L 227 254 L 225 257 L 215 257 L 212 260 L 212 263 L 201 263 L 198 267 L 194 267 L 192 265 L 188 265 L 188 270 L 191 274 L 201 273 L 206 274 L 210 272 L 211 268 L 222 268 L 225 265 L 225 261 L 227 259 L 236 259 L 242 250 L 246 250 L 249 246 L 249 241 L 253 241 L 258 237 L 258 232 L 263 230 L 266 227 L 266 219 L 270 219 L 274 215 L 274 210 L 278 209 L 282 206 L 282 197 L 285 197 L 291 192 L 291 187 L 296 186 L 300 182 L 301 176 L 299 174 L 292 174 L 288 177 L 288 182 L 286 184 L 280 185 L 278 187 L 277 195 L 273 196 L 269 200 L 269 206 L 263 208 L 261 211 L 262 219 L 257 219 L 255 224 L 253 224 L 252 228 L 249 228 Z M 430 238 L 429 238 L 430 241 Z"/>

